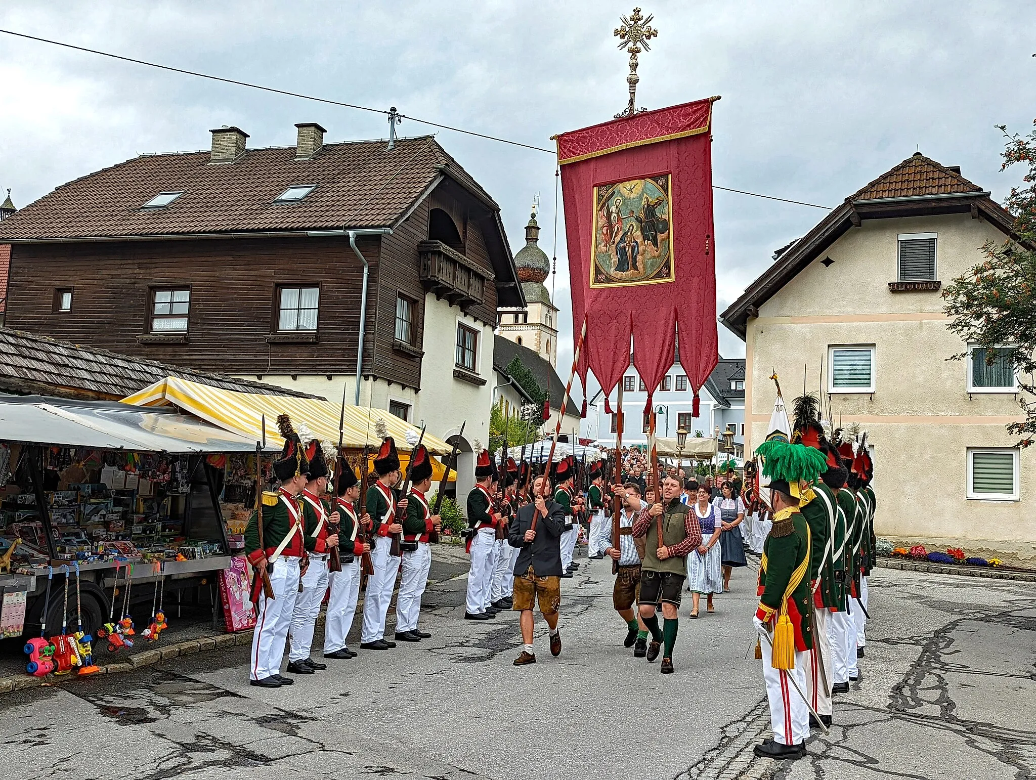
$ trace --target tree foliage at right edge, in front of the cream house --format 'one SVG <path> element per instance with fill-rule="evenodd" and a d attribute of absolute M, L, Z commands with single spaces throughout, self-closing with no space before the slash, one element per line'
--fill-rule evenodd
<path fill-rule="evenodd" d="M 1034 122 L 1036 124 L 1036 122 Z M 1010 345 L 1018 384 L 1028 394 L 1018 399 L 1025 420 L 1011 423 L 1007 432 L 1020 436 L 1018 446 L 1034 443 L 1036 395 L 1032 374 L 1036 372 L 1036 131 L 1028 136 L 1007 138 L 1001 170 L 1012 165 L 1028 166 L 1025 185 L 1013 187 L 1004 206 L 1014 216 L 1015 235 L 1003 243 L 986 241 L 985 259 L 954 279 L 943 289 L 944 311 L 950 316 L 949 329 L 969 345 L 986 350 L 987 360 L 996 358 L 996 348 Z M 951 355 L 963 359 L 967 352 Z M 1028 382 L 1026 374 L 1029 375 Z"/>

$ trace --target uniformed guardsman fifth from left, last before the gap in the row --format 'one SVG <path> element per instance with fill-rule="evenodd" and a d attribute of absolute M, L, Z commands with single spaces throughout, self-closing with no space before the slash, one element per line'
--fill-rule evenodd
<path fill-rule="evenodd" d="M 432 486 L 432 459 L 428 449 L 420 444 L 407 466 L 410 495 L 407 496 L 406 519 L 403 520 L 403 578 L 396 601 L 396 640 L 420 642 L 432 635 L 418 630 L 421 597 L 428 586 L 428 571 L 432 566 L 432 548 L 428 537 L 442 526 L 442 519 L 428 507 L 428 491 Z"/>

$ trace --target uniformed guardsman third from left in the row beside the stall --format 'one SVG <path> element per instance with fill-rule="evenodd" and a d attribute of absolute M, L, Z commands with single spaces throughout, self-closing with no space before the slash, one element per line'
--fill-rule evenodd
<path fill-rule="evenodd" d="M 364 464 L 366 467 L 367 464 Z M 359 598 L 361 559 L 371 551 L 370 544 L 364 542 L 370 515 L 357 510 L 359 501 L 359 480 L 344 458 L 338 461 L 342 475 L 338 478 L 338 498 L 335 509 L 342 518 L 339 539 L 342 556 L 342 571 L 329 575 L 330 596 L 327 597 L 327 615 L 324 619 L 324 658 L 336 660 L 353 658 L 355 653 L 346 645 L 352 618 L 356 614 Z M 361 514 L 362 513 L 362 514 Z"/>

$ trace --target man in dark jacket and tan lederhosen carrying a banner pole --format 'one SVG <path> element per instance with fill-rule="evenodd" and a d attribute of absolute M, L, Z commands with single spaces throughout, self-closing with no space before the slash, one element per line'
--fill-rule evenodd
<path fill-rule="evenodd" d="M 536 478 L 533 495 L 536 500 L 518 510 L 508 535 L 508 543 L 520 550 L 518 560 L 515 561 L 512 609 L 521 612 L 521 638 L 524 647 L 515 659 L 515 666 L 536 663 L 536 654 L 533 653 L 533 607 L 537 602 L 550 628 L 550 655 L 557 656 L 562 652 L 562 636 L 557 633 L 557 608 L 562 603 L 565 508 L 548 497 L 550 481 L 546 476 Z"/>

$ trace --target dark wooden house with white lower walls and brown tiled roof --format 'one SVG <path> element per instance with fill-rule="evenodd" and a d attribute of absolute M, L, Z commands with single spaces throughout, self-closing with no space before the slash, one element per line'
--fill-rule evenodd
<path fill-rule="evenodd" d="M 143 154 L 4 220 L 6 324 L 488 440 L 496 310 L 525 304 L 499 207 L 433 137 L 296 127 L 257 149 L 213 129 L 209 151 Z"/>

